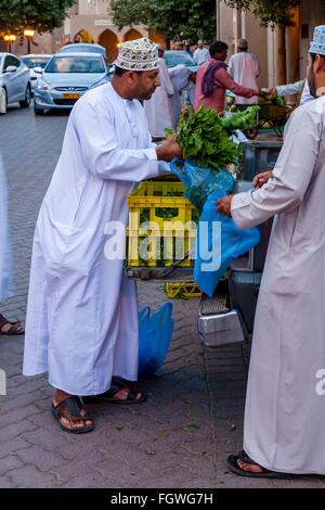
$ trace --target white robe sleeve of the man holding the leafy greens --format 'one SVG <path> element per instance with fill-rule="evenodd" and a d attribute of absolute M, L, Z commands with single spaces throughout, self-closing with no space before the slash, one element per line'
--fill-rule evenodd
<path fill-rule="evenodd" d="M 105 112 L 109 115 L 109 112 Z M 84 105 L 74 119 L 77 128 L 82 157 L 90 169 L 101 179 L 140 181 L 158 175 L 158 161 L 155 149 L 121 149 L 118 146 L 114 129 L 107 129 L 103 112 L 92 104 Z M 150 135 L 147 133 L 147 140 Z"/>

